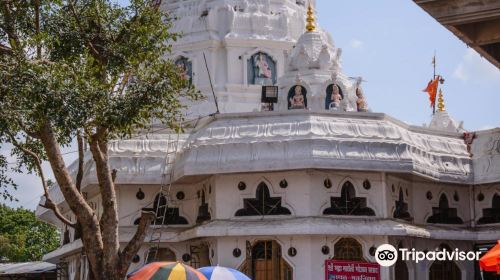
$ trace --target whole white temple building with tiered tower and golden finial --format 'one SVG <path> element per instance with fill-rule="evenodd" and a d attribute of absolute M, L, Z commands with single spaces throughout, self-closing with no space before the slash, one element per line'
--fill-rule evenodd
<path fill-rule="evenodd" d="M 325 260 L 373 263 L 384 243 L 471 251 L 499 238 L 500 129 L 466 131 L 439 93 L 427 126 L 376 112 L 314 5 L 163 1 L 183 34 L 168 58 L 206 98 L 188 105 L 182 134 L 157 125 L 110 145 L 123 244 L 143 209 L 157 214 L 130 271 L 182 260 L 254 280 L 319 280 Z M 100 213 L 86 160 L 82 191 Z M 50 192 L 74 221 L 58 187 Z M 36 214 L 62 234 L 44 261 L 62 279 L 87 279 L 78 234 L 50 210 Z M 380 278 L 477 279 L 476 266 L 398 261 Z"/>

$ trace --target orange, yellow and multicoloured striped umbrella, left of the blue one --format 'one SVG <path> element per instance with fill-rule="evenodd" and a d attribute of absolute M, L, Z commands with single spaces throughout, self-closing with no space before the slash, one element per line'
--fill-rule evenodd
<path fill-rule="evenodd" d="M 130 273 L 128 280 L 207 280 L 196 269 L 180 262 L 153 262 Z"/>

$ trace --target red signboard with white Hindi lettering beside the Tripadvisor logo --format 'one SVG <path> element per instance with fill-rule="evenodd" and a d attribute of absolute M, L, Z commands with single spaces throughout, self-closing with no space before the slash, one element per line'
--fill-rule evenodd
<path fill-rule="evenodd" d="M 325 261 L 325 280 L 380 280 L 380 265 L 356 261 Z"/>

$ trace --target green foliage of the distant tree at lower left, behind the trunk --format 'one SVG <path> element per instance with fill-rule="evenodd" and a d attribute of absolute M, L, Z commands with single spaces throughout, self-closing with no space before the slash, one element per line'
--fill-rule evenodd
<path fill-rule="evenodd" d="M 32 211 L 0 204 L 0 261 L 38 261 L 59 245 L 59 234 Z"/>

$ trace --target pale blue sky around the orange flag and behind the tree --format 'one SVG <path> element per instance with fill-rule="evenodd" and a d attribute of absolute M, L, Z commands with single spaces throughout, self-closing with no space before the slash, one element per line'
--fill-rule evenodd
<path fill-rule="evenodd" d="M 343 49 L 343 71 L 363 76 L 374 112 L 402 121 L 429 123 L 431 109 L 422 92 L 432 77 L 432 56 L 447 111 L 469 130 L 500 126 L 500 71 L 410 0 L 317 0 L 317 18 Z M 0 152 L 8 154 L 10 147 Z M 74 155 L 68 155 L 70 163 Z M 47 169 L 47 168 L 46 168 Z M 34 209 L 41 186 L 34 176 L 14 176 L 20 190 L 17 203 Z"/>

